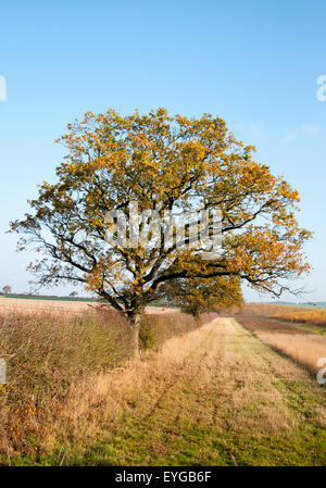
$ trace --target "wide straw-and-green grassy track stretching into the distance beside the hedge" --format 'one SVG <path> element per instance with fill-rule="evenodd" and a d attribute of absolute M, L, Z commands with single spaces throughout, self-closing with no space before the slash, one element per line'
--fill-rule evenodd
<path fill-rule="evenodd" d="M 306 371 L 233 318 L 171 343 L 181 359 L 167 341 L 118 422 L 77 463 L 326 464 L 326 391 Z"/>

